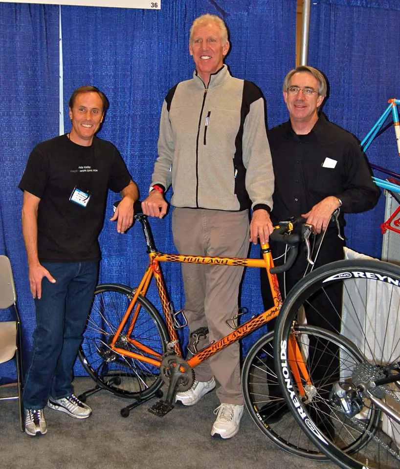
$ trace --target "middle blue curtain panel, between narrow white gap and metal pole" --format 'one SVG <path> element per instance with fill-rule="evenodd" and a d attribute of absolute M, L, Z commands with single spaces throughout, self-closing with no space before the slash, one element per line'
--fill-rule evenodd
<path fill-rule="evenodd" d="M 224 18 L 232 44 L 226 63 L 232 74 L 261 87 L 270 125 L 286 119 L 280 97 L 283 77 L 295 64 L 295 1 L 220 1 L 217 6 L 213 1 L 170 0 L 163 1 L 161 11 L 72 6 L 63 6 L 61 11 L 64 95 L 82 84 L 105 91 L 111 106 L 100 136 L 120 149 L 142 198 L 147 195 L 157 155 L 164 97 L 178 81 L 191 78 L 194 70 L 188 40 L 197 16 L 212 13 Z M 89 38 L 76 41 L 88 24 Z M 111 194 L 110 199 L 115 197 Z M 110 210 L 111 205 L 110 200 Z M 171 216 L 152 219 L 151 224 L 158 250 L 176 252 Z M 121 236 L 106 221 L 101 244 L 100 280 L 137 285 L 148 261 L 140 228 Z M 259 255 L 259 248 L 253 251 Z M 180 309 L 184 305 L 180 266 L 163 264 L 163 272 Z M 262 310 L 258 284 L 258 269 L 249 269 L 242 304 L 253 313 Z M 160 307 L 155 289 L 150 299 Z"/>

